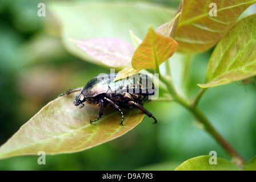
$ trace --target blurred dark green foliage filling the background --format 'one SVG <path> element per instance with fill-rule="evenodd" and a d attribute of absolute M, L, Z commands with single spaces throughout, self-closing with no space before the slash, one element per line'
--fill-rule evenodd
<path fill-rule="evenodd" d="M 99 73 L 109 72 L 71 56 L 58 36 L 45 31 L 43 17 L 37 16 L 39 2 L 43 1 L 0 1 L 0 144 L 59 93 L 83 86 Z M 179 4 L 179 1 L 147 2 L 174 8 Z M 194 58 L 188 89 L 191 97 L 199 90 L 197 84 L 205 81 L 211 51 Z M 175 64 L 171 59 L 171 65 Z M 207 90 L 199 103 L 217 130 L 246 160 L 256 154 L 255 93 L 255 83 L 233 83 Z M 229 159 L 182 106 L 149 102 L 145 107 L 158 118 L 157 125 L 151 125 L 151 119 L 145 117 L 129 133 L 89 150 L 47 155 L 46 165 L 38 165 L 38 156 L 0 160 L 0 169 L 172 170 L 183 161 L 208 155 L 212 150 L 217 151 L 218 157 Z"/>

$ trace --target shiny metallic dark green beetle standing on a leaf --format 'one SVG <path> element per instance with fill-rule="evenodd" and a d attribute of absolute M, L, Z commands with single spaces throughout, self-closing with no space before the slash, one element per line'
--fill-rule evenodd
<path fill-rule="evenodd" d="M 65 94 L 70 94 L 72 92 L 77 92 L 81 90 L 81 93 L 75 97 L 74 105 L 83 106 L 83 102 L 99 106 L 99 115 L 98 118 L 91 120 L 90 123 L 98 121 L 102 115 L 104 107 L 112 106 L 118 110 L 122 115 L 122 120 L 120 125 L 123 125 L 123 112 L 121 108 L 131 109 L 137 107 L 143 113 L 154 119 L 154 124 L 157 123 L 157 119 L 147 111 L 142 105 L 149 101 L 149 96 L 154 95 L 154 84 L 150 77 L 147 75 L 141 74 L 138 77 L 138 74 L 130 76 L 129 79 L 121 79 L 114 81 L 114 78 L 117 76 L 115 74 L 108 74 L 104 77 L 97 76 L 92 78 L 85 86 L 81 89 L 71 89 L 66 93 L 62 93 L 59 96 Z M 145 84 L 145 81 L 147 84 Z M 149 90 L 151 90 L 149 92 Z"/>

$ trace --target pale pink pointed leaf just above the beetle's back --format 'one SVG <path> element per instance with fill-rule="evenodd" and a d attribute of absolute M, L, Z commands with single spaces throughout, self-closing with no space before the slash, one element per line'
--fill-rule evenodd
<path fill-rule="evenodd" d="M 131 62 L 134 48 L 118 38 L 72 40 L 87 55 L 109 67 L 124 67 Z"/>

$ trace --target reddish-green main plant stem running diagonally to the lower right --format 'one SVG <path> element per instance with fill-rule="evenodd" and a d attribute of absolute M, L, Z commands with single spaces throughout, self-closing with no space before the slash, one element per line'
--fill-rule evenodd
<path fill-rule="evenodd" d="M 236 159 L 237 163 L 244 164 L 245 160 L 234 150 L 233 147 L 230 146 L 229 143 L 226 142 L 226 140 L 221 136 L 221 134 L 218 133 L 217 130 L 211 125 L 210 121 L 206 118 L 206 116 L 202 113 L 201 110 L 198 109 L 197 105 L 190 104 L 189 101 L 187 101 L 185 98 L 179 96 L 179 94 L 176 92 L 174 85 L 172 82 L 169 82 L 165 77 L 162 77 L 159 74 L 159 80 L 161 80 L 167 87 L 167 90 L 169 91 L 170 95 L 173 97 L 173 100 L 181 104 L 182 106 L 186 107 L 190 111 L 191 114 L 194 115 L 195 118 L 199 122 L 201 122 L 205 128 L 205 130 L 210 133 L 210 135 L 213 136 L 213 138 L 227 151 L 227 153 L 231 156 L 231 158 Z M 204 90 L 204 91 L 203 91 Z M 205 92 L 206 89 L 202 89 L 201 92 L 199 92 L 198 97 L 196 97 L 196 103 L 198 103 L 199 98 L 201 98 L 203 92 Z"/>

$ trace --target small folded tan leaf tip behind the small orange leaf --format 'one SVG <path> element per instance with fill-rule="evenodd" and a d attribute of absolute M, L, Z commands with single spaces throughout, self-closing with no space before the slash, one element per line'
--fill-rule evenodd
<path fill-rule="evenodd" d="M 179 12 L 177 15 L 174 16 L 173 19 L 170 20 L 170 22 L 167 22 L 165 24 L 162 24 L 160 27 L 158 27 L 155 32 L 157 34 L 163 35 L 163 36 L 171 36 L 171 32 L 173 31 L 174 23 L 177 23 L 177 18 L 181 15 L 181 12 Z"/>

